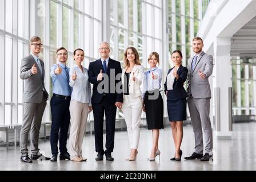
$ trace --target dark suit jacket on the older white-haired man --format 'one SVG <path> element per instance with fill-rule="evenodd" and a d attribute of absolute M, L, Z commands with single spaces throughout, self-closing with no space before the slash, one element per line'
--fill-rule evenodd
<path fill-rule="evenodd" d="M 91 98 L 92 104 L 98 104 L 99 102 L 102 101 L 102 98 L 103 98 L 103 93 L 99 93 L 97 90 L 98 84 L 101 82 L 101 81 L 97 81 L 97 77 L 98 77 L 99 73 L 101 72 L 101 69 L 104 72 L 101 59 L 91 62 L 89 65 L 89 71 L 88 71 L 89 81 L 91 84 L 93 84 L 93 96 Z M 115 75 L 113 75 L 113 76 L 115 76 L 114 78 L 110 78 L 110 69 L 114 69 L 114 71 L 115 71 Z M 106 74 L 107 74 L 107 76 L 109 76 L 109 92 L 105 93 L 106 94 L 105 97 L 107 98 L 107 100 L 110 103 L 113 103 L 113 104 L 115 104 L 115 102 L 123 102 L 122 80 L 121 80 L 122 69 L 121 69 L 120 62 L 109 58 L 109 63 L 107 64 L 107 73 Z M 120 75 L 117 76 L 118 74 L 120 74 Z M 116 80 L 116 78 L 117 78 L 117 80 Z M 114 86 L 116 86 L 118 84 L 118 87 L 121 88 L 121 93 L 117 93 L 116 89 L 114 90 L 114 93 L 110 93 L 110 85 L 111 85 L 110 81 L 115 81 L 115 83 L 112 84 Z M 112 90 L 113 90 L 113 88 L 112 88 Z"/>

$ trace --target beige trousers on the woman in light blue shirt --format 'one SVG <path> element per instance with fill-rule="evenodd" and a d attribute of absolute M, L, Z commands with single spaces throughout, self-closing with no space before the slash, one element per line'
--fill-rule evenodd
<path fill-rule="evenodd" d="M 70 102 L 70 158 L 82 156 L 83 136 L 85 134 L 89 104 L 72 100 Z"/>

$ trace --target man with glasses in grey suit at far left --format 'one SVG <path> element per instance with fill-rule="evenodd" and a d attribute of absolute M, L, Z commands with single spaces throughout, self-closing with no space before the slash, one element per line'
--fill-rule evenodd
<path fill-rule="evenodd" d="M 32 160 L 42 159 L 50 160 L 42 154 L 39 154 L 38 138 L 41 127 L 43 112 L 45 111 L 48 93 L 45 89 L 45 67 L 43 61 L 38 55 L 42 48 L 41 39 L 33 36 L 30 39 L 29 56 L 24 57 L 21 61 L 22 80 L 25 80 L 23 92 L 23 122 L 21 127 L 21 162 L 31 163 Z M 31 131 L 30 131 L 31 129 Z M 27 143 L 30 131 L 31 141 L 31 159 L 27 150 Z"/>

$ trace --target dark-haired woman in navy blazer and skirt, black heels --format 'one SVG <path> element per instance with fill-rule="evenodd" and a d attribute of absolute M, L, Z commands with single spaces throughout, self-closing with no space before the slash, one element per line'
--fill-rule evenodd
<path fill-rule="evenodd" d="M 182 67 L 182 53 L 179 50 L 171 53 L 174 67 L 169 69 L 165 81 L 165 94 L 167 96 L 167 110 L 173 140 L 175 144 L 174 158 L 170 160 L 181 160 L 182 151 L 180 149 L 183 137 L 183 121 L 186 120 L 186 97 L 187 92 L 183 87 L 187 79 L 187 68 Z"/>

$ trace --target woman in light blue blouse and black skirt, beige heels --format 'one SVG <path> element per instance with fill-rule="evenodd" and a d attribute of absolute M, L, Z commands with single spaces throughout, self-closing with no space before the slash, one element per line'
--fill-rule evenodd
<path fill-rule="evenodd" d="M 159 64 L 159 55 L 157 52 L 151 52 L 147 59 L 150 64 L 149 71 L 143 75 L 143 111 L 146 112 L 147 129 L 152 130 L 153 146 L 151 149 L 149 161 L 154 161 L 159 156 L 158 149 L 159 129 L 163 129 L 163 98 L 159 93 L 163 71 L 157 67 Z"/>

